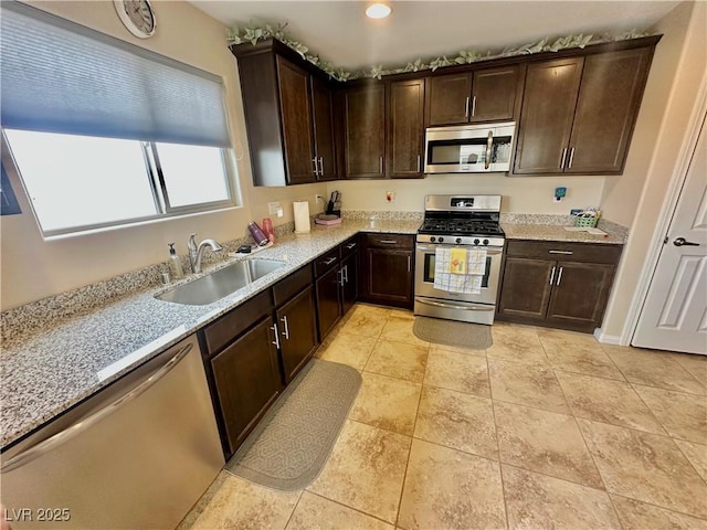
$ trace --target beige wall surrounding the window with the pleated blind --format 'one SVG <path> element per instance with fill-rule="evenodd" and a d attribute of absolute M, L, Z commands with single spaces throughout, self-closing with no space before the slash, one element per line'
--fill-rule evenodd
<path fill-rule="evenodd" d="M 241 237 L 246 234 L 251 220 L 260 222 L 267 214 L 268 201 L 279 201 L 285 212 L 284 218 L 273 219 L 275 224 L 292 221 L 293 200 L 309 200 L 314 211 L 315 193 L 326 194 L 325 184 L 253 189 L 235 59 L 226 47 L 225 29 L 220 22 L 187 2 L 160 1 L 155 4 L 159 24 L 157 34 L 140 40 L 123 26 L 113 1 L 28 3 L 223 77 L 234 152 L 236 156 L 245 152 L 238 162 L 243 206 L 44 241 L 22 188 L 10 170 L 23 213 L 3 216 L 0 225 L 2 309 L 162 262 L 168 256 L 167 243 L 172 241 L 184 254 L 187 239 L 192 232 L 197 232 L 199 237 L 221 241 Z"/>

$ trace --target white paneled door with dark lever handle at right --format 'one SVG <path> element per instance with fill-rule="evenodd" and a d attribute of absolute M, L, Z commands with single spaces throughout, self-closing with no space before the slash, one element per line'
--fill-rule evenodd
<path fill-rule="evenodd" d="M 707 354 L 707 130 L 701 130 L 633 346 Z"/>

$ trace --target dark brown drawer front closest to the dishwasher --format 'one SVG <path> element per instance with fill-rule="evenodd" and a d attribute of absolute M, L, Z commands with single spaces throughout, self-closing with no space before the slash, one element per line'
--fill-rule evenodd
<path fill-rule="evenodd" d="M 217 353 L 272 310 L 273 303 L 267 289 L 207 326 L 203 336 L 209 356 Z"/>

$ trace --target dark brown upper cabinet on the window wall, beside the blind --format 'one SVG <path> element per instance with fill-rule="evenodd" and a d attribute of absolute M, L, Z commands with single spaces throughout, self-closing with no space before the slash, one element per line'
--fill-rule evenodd
<path fill-rule="evenodd" d="M 276 40 L 232 45 L 255 186 L 337 178 L 326 75 Z"/>

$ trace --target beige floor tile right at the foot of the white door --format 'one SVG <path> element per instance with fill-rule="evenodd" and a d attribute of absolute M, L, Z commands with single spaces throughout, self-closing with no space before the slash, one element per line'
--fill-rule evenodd
<path fill-rule="evenodd" d="M 632 383 L 705 394 L 706 389 L 666 351 L 602 344 Z"/>

